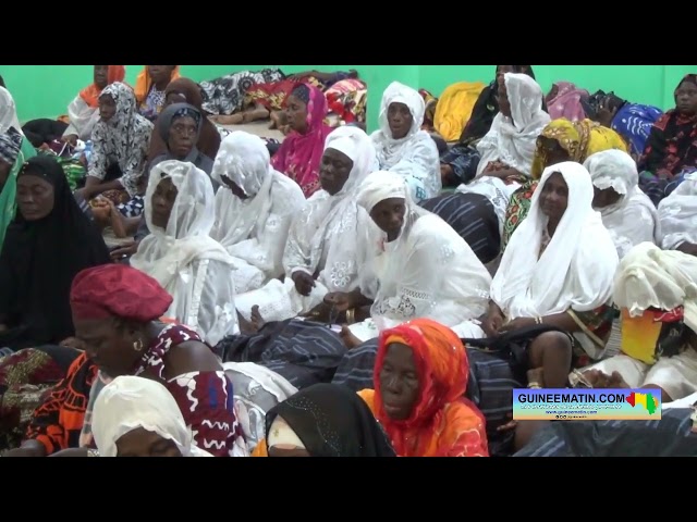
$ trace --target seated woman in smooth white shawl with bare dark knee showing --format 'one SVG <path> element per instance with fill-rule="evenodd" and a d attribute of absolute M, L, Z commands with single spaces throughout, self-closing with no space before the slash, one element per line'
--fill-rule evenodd
<path fill-rule="evenodd" d="M 592 198 L 583 165 L 548 167 L 493 277 L 482 327 L 489 337 L 530 328 L 522 339 L 529 386 L 563 388 L 572 365 L 603 356 L 619 259 Z"/>

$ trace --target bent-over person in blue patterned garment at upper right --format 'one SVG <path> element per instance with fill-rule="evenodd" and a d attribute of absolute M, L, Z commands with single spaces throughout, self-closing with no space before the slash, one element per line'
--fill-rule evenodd
<path fill-rule="evenodd" d="M 613 129 L 629 144 L 629 154 L 639 160 L 651 128 L 663 111 L 658 107 L 632 103 L 614 92 L 599 90 L 584 102 L 587 117 Z"/>

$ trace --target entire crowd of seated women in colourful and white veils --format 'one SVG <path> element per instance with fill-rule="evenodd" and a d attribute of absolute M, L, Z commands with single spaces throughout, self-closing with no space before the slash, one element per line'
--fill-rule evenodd
<path fill-rule="evenodd" d="M 0 88 L 0 455 L 632 452 L 516 423 L 519 387 L 657 388 L 683 426 L 697 75 L 659 114 L 496 73 L 394 82 L 370 135 L 327 123 L 353 71 L 96 65 L 32 139 Z M 262 117 L 282 144 L 220 126 Z"/>

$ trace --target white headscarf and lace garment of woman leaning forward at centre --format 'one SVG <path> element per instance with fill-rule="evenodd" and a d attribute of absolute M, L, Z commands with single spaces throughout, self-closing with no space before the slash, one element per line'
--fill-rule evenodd
<path fill-rule="evenodd" d="M 371 318 L 378 328 L 419 318 L 453 327 L 482 315 L 491 276 L 472 248 L 443 220 L 415 204 L 398 174 L 370 174 L 358 204 L 370 212 L 390 198 L 405 202 L 400 236 L 387 243 L 382 232 L 365 249 L 372 256 L 360 271 L 360 289 L 374 299 Z"/>

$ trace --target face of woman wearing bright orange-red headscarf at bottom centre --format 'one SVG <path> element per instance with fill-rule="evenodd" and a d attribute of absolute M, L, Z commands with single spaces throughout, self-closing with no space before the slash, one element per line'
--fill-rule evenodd
<path fill-rule="evenodd" d="M 402 343 L 389 345 L 379 380 L 387 415 L 394 421 L 408 419 L 419 394 L 418 371 L 412 348 Z"/>

